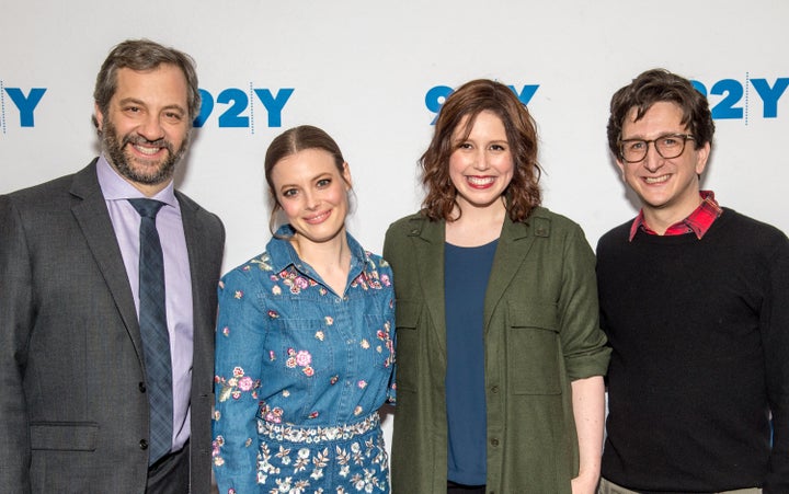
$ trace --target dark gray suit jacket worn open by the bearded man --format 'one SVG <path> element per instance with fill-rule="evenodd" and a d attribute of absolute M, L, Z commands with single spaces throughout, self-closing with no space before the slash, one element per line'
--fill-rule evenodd
<path fill-rule="evenodd" d="M 208 493 L 225 230 L 176 196 L 194 300 L 192 492 Z M 0 196 L 0 490 L 144 493 L 141 348 L 95 160 L 75 175 Z"/>

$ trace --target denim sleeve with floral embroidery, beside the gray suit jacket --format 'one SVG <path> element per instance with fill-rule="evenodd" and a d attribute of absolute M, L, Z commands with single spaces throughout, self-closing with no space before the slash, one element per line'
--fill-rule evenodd
<path fill-rule="evenodd" d="M 249 278 L 230 272 L 219 285 L 216 332 L 214 472 L 219 493 L 258 486 L 258 407 L 265 329 Z"/>

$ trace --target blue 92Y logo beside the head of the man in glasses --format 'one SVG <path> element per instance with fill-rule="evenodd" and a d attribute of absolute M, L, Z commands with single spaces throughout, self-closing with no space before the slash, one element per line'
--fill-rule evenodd
<path fill-rule="evenodd" d="M 763 118 L 778 117 L 778 102 L 789 87 L 789 78 L 777 78 L 770 82 L 764 78 L 752 79 L 745 72 L 744 83 L 736 79 L 721 79 L 705 84 L 691 81 L 694 87 L 710 101 L 712 118 L 714 119 L 744 119 L 755 117 L 756 108 L 753 106 L 761 102 Z M 709 89 L 708 89 L 709 87 Z M 751 91 L 753 89 L 753 91 Z M 711 96 L 722 96 L 720 100 Z"/>

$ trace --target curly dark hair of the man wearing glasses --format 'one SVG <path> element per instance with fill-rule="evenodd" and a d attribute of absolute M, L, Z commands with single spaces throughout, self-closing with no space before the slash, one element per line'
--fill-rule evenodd
<path fill-rule="evenodd" d="M 684 77 L 665 69 L 651 69 L 642 72 L 632 82 L 614 93 L 608 117 L 608 148 L 620 159 L 619 139 L 625 119 L 632 108 L 636 120 L 659 102 L 672 102 L 682 108 L 682 124 L 687 126 L 694 136 L 696 149 L 709 142 L 712 145 L 714 122 L 707 97 L 698 92 L 693 83 Z"/>

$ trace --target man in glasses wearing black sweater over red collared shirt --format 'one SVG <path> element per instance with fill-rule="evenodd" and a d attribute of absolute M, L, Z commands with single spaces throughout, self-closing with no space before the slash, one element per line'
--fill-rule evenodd
<path fill-rule="evenodd" d="M 601 494 L 789 493 L 789 240 L 700 191 L 713 133 L 706 97 L 665 70 L 611 99 L 641 211 L 597 245 Z"/>

